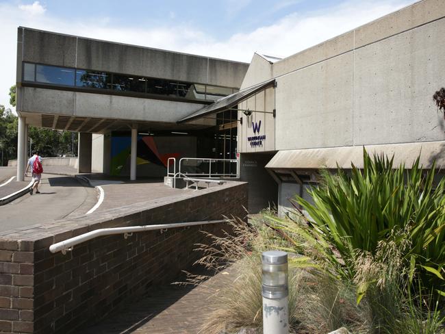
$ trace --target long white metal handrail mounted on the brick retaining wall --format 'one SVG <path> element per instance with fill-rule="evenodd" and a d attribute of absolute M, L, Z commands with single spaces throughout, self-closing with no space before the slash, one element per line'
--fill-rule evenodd
<path fill-rule="evenodd" d="M 167 229 L 175 229 L 177 227 L 188 227 L 188 226 L 196 226 L 196 225 L 205 225 L 205 224 L 217 224 L 218 222 L 226 222 L 227 220 L 203 220 L 201 222 L 176 222 L 174 224 L 157 224 L 157 225 L 143 225 L 143 226 L 131 226 L 131 227 L 112 227 L 109 229 L 97 229 L 94 231 L 90 231 L 88 233 L 84 233 L 81 235 L 77 235 L 76 237 L 71 237 L 70 239 L 57 242 L 49 246 L 49 251 L 51 253 L 62 252 L 62 254 L 66 254 L 66 251 L 73 251 L 74 246 L 77 244 L 81 244 L 82 242 L 86 242 L 88 240 L 92 240 L 95 237 L 101 237 L 103 235 L 115 235 L 115 234 L 123 234 L 125 239 L 132 235 L 135 232 L 144 232 L 144 231 L 156 231 L 161 230 L 162 232 L 167 231 Z"/>

